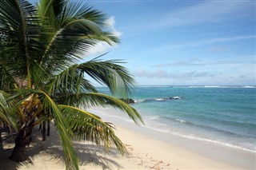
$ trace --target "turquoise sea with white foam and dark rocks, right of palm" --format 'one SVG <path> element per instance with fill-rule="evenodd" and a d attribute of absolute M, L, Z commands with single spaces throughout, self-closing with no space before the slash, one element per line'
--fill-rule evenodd
<path fill-rule="evenodd" d="M 131 98 L 147 128 L 256 152 L 256 88 L 141 86 Z"/>

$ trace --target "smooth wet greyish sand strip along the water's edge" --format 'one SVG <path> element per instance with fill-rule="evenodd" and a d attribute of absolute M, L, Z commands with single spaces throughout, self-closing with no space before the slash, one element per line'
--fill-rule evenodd
<path fill-rule="evenodd" d="M 113 109 L 110 109 L 110 110 L 111 112 L 116 112 L 118 114 L 118 111 L 114 111 Z M 130 134 L 135 133 L 136 135 L 138 135 L 138 138 L 145 137 L 143 138 L 144 140 L 152 140 L 153 143 L 159 142 L 160 146 L 161 144 L 163 144 L 167 148 L 172 148 L 172 149 L 179 148 L 180 152 L 193 153 L 197 155 L 197 159 L 200 161 L 201 159 L 203 160 L 208 159 L 209 161 L 213 161 L 212 166 L 214 166 L 214 164 L 218 164 L 216 166 L 216 168 L 218 169 L 230 169 L 230 168 L 255 169 L 256 168 L 256 153 L 254 152 L 244 151 L 239 148 L 231 148 L 226 145 L 215 144 L 213 142 L 206 141 L 206 140 L 190 139 L 184 136 L 177 136 L 177 135 L 173 135 L 166 132 L 158 132 L 151 128 L 134 125 L 134 123 L 131 121 L 123 121 L 121 118 L 118 118 L 118 117 L 106 116 L 106 113 L 110 112 L 108 109 L 94 108 L 94 109 L 91 109 L 91 112 L 100 115 L 100 117 L 102 117 L 102 120 L 110 121 L 111 123 L 116 125 L 117 131 L 119 131 L 118 129 L 121 129 L 120 130 L 121 132 L 117 132 L 117 134 L 121 138 L 121 140 L 123 140 L 124 142 L 126 142 L 126 140 L 129 140 L 130 138 L 127 139 L 127 137 L 124 137 L 124 139 L 122 139 L 122 131 Z M 106 112 L 106 113 L 102 114 L 103 112 Z M 127 142 L 133 143 L 132 140 L 129 140 Z M 162 156 L 159 156 L 161 154 L 155 153 L 154 155 L 155 156 L 158 155 L 159 158 L 162 158 Z M 186 156 L 186 154 L 184 156 Z M 190 156 L 187 156 L 187 157 L 190 157 Z M 197 159 L 195 159 L 195 161 Z M 182 164 L 186 164 L 186 163 L 183 162 Z M 231 167 L 227 168 L 228 166 L 231 166 Z M 199 167 L 194 167 L 194 169 L 198 169 L 198 168 Z M 209 168 L 210 167 L 208 167 L 207 169 Z M 206 169 L 206 167 L 202 169 Z"/>

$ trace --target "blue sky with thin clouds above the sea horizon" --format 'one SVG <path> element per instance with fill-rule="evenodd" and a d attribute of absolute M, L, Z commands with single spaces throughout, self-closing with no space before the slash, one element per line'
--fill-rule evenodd
<path fill-rule="evenodd" d="M 94 57 L 123 59 L 138 85 L 256 85 L 254 1 L 90 1 L 121 44 Z"/>

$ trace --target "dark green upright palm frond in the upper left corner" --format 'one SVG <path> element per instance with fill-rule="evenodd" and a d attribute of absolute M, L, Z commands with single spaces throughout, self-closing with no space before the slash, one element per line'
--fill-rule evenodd
<path fill-rule="evenodd" d="M 40 48 L 36 9 L 25 0 L 2 0 L 0 11 L 1 64 L 11 75 L 30 77 L 30 63 L 38 57 Z"/>

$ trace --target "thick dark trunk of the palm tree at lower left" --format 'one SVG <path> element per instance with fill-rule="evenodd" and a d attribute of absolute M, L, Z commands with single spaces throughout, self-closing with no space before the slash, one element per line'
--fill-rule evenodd
<path fill-rule="evenodd" d="M 16 162 L 22 162 L 26 160 L 26 146 L 28 146 L 32 140 L 31 133 L 33 130 L 34 120 L 30 121 L 30 124 L 24 125 L 20 128 L 18 136 L 15 139 L 15 147 L 10 156 L 10 160 Z"/>

